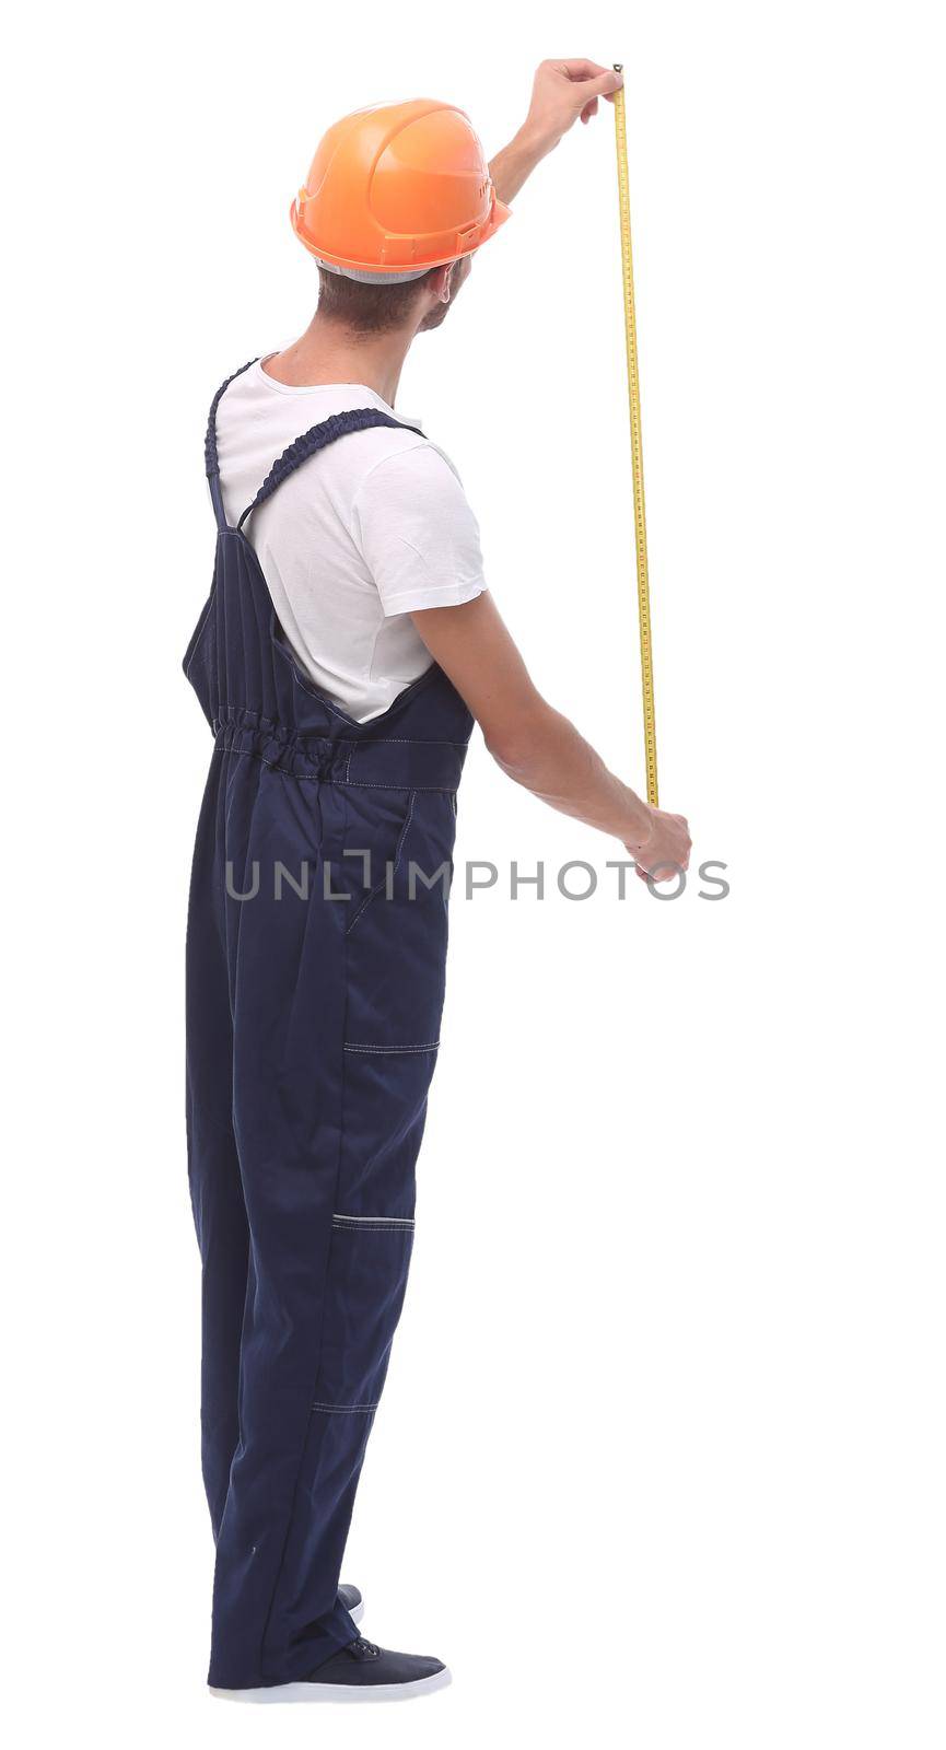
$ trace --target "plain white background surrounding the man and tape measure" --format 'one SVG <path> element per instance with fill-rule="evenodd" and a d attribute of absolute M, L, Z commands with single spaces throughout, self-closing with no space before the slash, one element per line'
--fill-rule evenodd
<path fill-rule="evenodd" d="M 17 1741 L 944 1741 L 943 226 L 934 9 L 33 9 L 7 38 L 3 1293 Z M 217 383 L 306 324 L 323 126 L 628 66 L 661 800 L 724 903 L 453 914 L 344 1577 L 397 1710 L 206 1698 L 182 936 Z M 642 784 L 610 110 L 402 406 L 549 698 Z M 616 849 L 479 744 L 460 858 Z M 619 854 L 619 852 L 617 852 Z M 9 1724 L 9 1720 L 7 1720 Z"/>

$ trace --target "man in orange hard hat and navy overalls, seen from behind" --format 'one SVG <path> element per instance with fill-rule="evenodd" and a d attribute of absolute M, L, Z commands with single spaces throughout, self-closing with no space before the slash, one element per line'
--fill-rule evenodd
<path fill-rule="evenodd" d="M 318 262 L 299 341 L 217 394 L 213 592 L 185 656 L 213 726 L 187 933 L 187 1132 L 203 1258 L 210 1684 L 243 1699 L 441 1687 L 358 1636 L 339 1566 L 413 1239 L 444 992 L 446 882 L 474 719 L 498 765 L 687 863 L 535 691 L 441 450 L 393 402 L 476 248 L 619 77 L 547 61 L 486 166 L 442 103 L 322 142 L 292 224 Z"/>

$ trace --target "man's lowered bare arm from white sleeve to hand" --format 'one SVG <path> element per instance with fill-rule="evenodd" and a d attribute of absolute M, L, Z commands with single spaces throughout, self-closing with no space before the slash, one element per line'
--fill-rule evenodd
<path fill-rule="evenodd" d="M 640 875 L 670 878 L 689 861 L 682 814 L 650 808 L 628 789 L 533 686 L 490 593 L 462 607 L 411 614 L 427 649 L 479 723 L 497 765 L 551 808 L 619 838 Z"/>

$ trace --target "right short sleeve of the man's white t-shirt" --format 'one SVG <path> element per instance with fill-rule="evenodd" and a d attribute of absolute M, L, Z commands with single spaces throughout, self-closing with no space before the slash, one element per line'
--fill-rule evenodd
<path fill-rule="evenodd" d="M 374 464 L 355 497 L 351 536 L 385 614 L 458 607 L 486 588 L 476 516 L 432 444 Z"/>

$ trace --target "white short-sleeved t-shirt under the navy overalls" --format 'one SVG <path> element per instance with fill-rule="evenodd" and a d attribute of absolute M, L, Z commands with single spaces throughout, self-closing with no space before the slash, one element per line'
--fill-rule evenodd
<path fill-rule="evenodd" d="M 346 408 L 393 413 L 364 383 L 290 388 L 259 362 L 243 371 L 217 408 L 227 522 L 238 522 L 287 444 Z M 486 588 L 456 469 L 409 430 L 339 438 L 303 462 L 245 528 L 296 660 L 358 723 L 430 667 L 411 611 L 472 602 Z"/>

